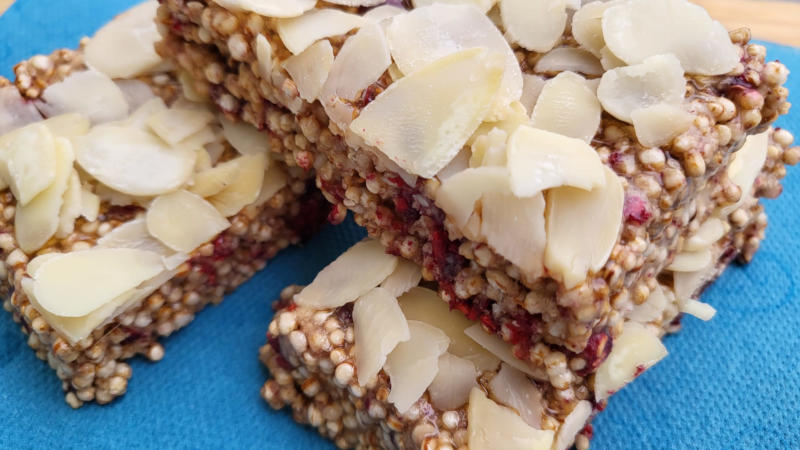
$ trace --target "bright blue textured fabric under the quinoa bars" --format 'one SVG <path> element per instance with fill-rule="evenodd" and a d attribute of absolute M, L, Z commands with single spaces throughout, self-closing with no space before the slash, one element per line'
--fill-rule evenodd
<path fill-rule="evenodd" d="M 75 47 L 137 0 L 17 0 L 0 17 L 0 74 L 36 53 Z M 797 77 L 800 51 L 768 45 Z M 781 126 L 800 132 L 800 111 Z M 595 422 L 596 449 L 755 449 L 800 445 L 800 174 L 767 202 L 768 239 L 755 261 L 707 292 L 718 314 L 684 320 L 670 355 L 611 399 Z M 132 361 L 128 394 L 109 406 L 71 410 L 47 364 L 0 313 L 0 448 L 332 448 L 259 397 L 257 360 L 281 288 L 307 283 L 363 236 L 351 221 L 281 253 L 218 307 L 167 339 L 158 364 Z M 500 447 L 498 447 L 500 450 Z"/>

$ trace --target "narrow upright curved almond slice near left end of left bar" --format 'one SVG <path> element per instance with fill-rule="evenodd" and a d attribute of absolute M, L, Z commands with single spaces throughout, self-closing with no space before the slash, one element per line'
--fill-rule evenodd
<path fill-rule="evenodd" d="M 56 138 L 56 172 L 53 182 L 28 204 L 17 207 L 14 230 L 17 244 L 25 253 L 39 250 L 58 230 L 59 212 L 64 203 L 64 192 L 67 190 L 74 160 L 69 141 Z"/>

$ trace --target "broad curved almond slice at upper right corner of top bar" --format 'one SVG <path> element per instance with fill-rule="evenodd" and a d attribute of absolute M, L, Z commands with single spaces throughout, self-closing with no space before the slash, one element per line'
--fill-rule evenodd
<path fill-rule="evenodd" d="M 617 3 L 603 13 L 603 37 L 628 64 L 671 53 L 689 73 L 722 75 L 739 63 L 725 27 L 685 0 Z"/>

